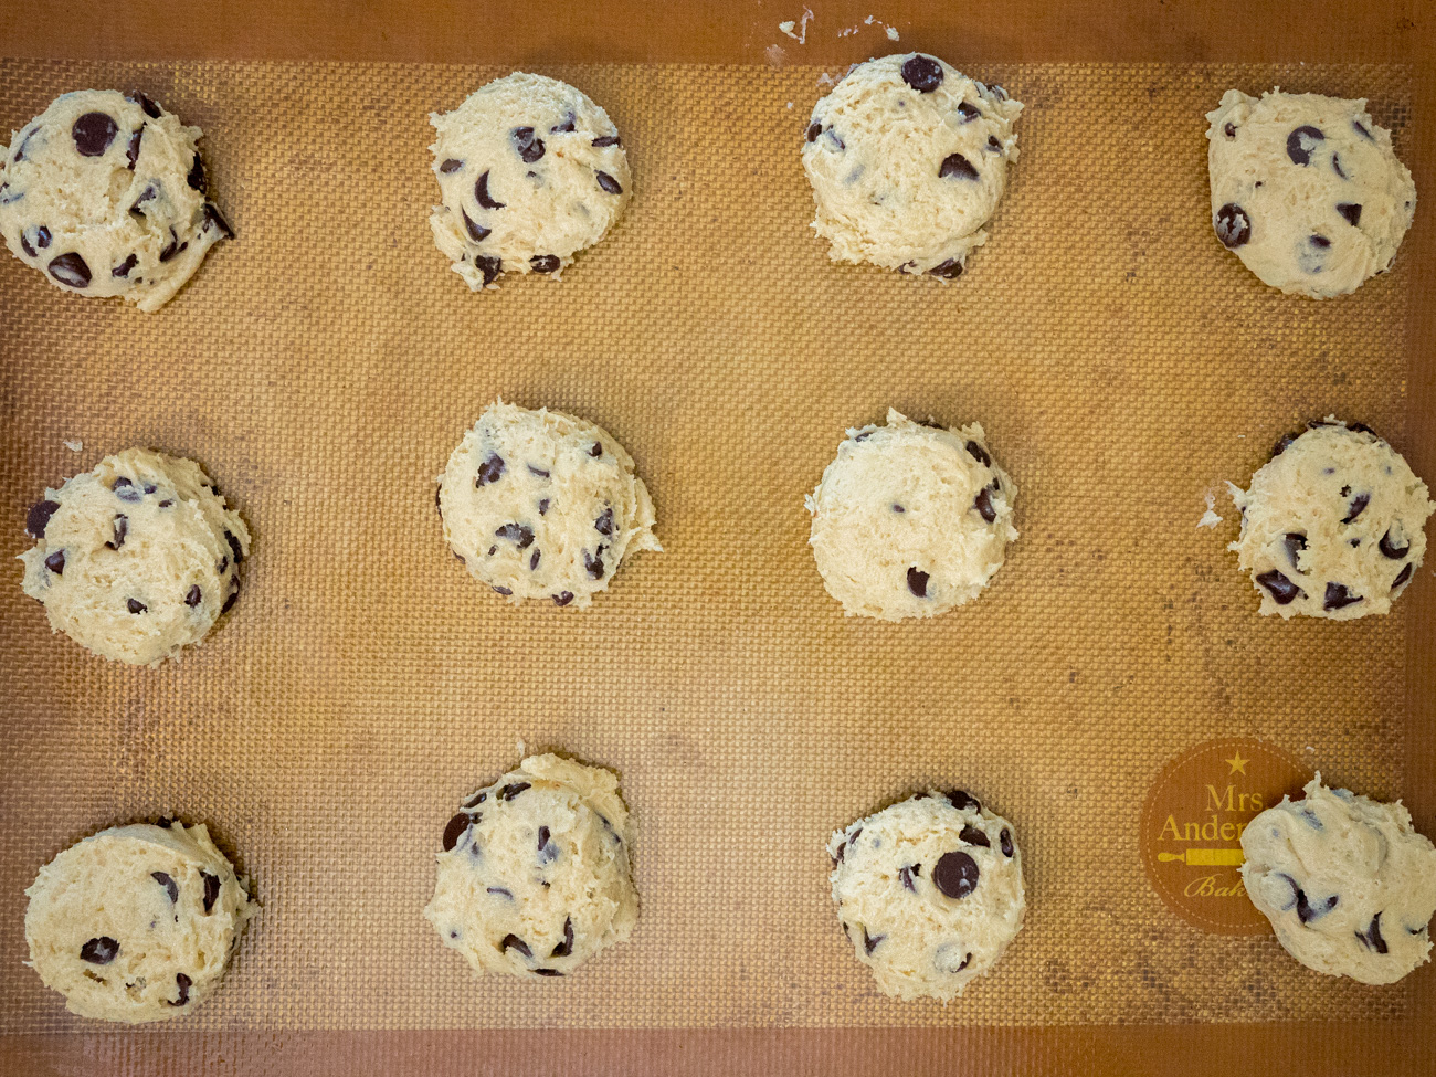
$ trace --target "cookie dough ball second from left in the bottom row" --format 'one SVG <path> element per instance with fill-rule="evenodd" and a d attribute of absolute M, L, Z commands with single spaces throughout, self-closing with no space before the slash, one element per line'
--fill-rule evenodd
<path fill-rule="evenodd" d="M 564 976 L 633 932 L 632 850 L 613 773 L 530 755 L 449 820 L 424 915 L 477 975 Z"/>

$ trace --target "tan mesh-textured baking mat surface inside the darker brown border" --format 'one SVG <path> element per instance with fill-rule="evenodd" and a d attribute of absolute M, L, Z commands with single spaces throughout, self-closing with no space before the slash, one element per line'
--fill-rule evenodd
<path fill-rule="evenodd" d="M 200 460 L 256 536 L 234 613 L 157 671 L 52 638 L 9 570 L 0 1031 L 93 1028 L 22 966 L 23 889 L 162 813 L 208 821 L 263 902 L 187 1030 L 1404 1012 L 1407 987 L 1176 919 L 1137 826 L 1212 737 L 1400 788 L 1400 605 L 1258 617 L 1219 482 L 1327 412 L 1403 447 L 1407 276 L 1262 287 L 1212 236 L 1202 113 L 1228 86 L 1369 96 L 1400 154 L 1409 70 L 974 69 L 1027 103 L 1021 159 L 946 287 L 833 266 L 808 230 L 820 69 L 541 70 L 609 111 L 636 197 L 561 283 L 472 296 L 428 231 L 425 113 L 508 67 L 0 63 L 6 129 L 85 86 L 202 126 L 238 233 L 154 316 L 0 266 L 0 551 L 46 484 L 129 445 Z M 444 547 L 434 478 L 500 393 L 606 426 L 653 493 L 666 551 L 589 612 L 516 610 Z M 981 421 L 1021 488 L 991 590 L 923 623 L 844 619 L 806 544 L 804 493 L 889 405 Z M 1226 518 L 1199 530 L 1208 494 Z M 421 916 L 444 823 L 520 740 L 616 768 L 640 827 L 633 941 L 559 985 L 474 981 Z M 945 1010 L 876 992 L 823 852 L 926 783 L 1011 819 L 1027 864 L 1025 929 Z"/>

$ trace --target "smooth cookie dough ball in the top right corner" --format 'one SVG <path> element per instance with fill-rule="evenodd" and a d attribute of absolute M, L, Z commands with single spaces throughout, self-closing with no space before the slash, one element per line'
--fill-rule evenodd
<path fill-rule="evenodd" d="M 1327 299 L 1391 267 L 1416 184 L 1364 99 L 1226 90 L 1206 118 L 1212 227 L 1264 283 Z"/>

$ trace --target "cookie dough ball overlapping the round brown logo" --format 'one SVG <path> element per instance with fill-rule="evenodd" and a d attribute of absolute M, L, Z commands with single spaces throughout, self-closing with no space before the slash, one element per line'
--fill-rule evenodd
<path fill-rule="evenodd" d="M 1436 847 L 1400 801 L 1331 790 L 1262 811 L 1242 831 L 1246 893 L 1307 968 L 1394 984 L 1430 959 Z"/>

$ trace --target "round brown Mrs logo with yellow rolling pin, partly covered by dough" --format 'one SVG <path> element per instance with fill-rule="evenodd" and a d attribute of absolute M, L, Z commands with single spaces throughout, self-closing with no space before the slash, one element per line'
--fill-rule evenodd
<path fill-rule="evenodd" d="M 1271 931 L 1242 886 L 1242 831 L 1310 780 L 1287 752 L 1242 737 L 1172 760 L 1142 810 L 1142 862 L 1166 906 L 1213 935 Z"/>

